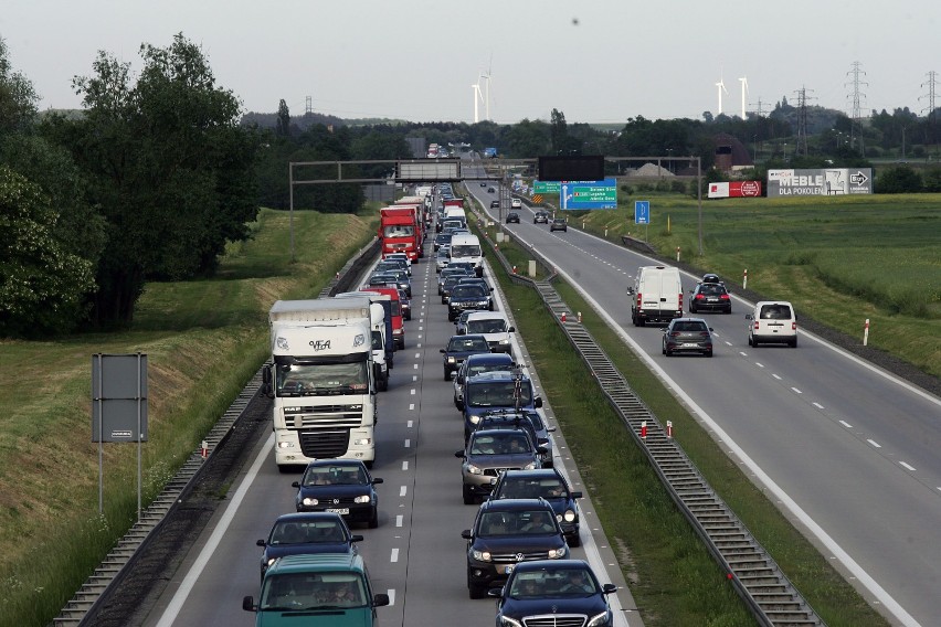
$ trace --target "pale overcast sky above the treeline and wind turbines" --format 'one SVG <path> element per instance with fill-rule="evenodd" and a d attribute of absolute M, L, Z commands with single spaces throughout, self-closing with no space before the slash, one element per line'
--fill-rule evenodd
<path fill-rule="evenodd" d="M 246 111 L 284 99 L 304 114 L 474 121 L 473 84 L 490 118 L 624 123 L 746 108 L 782 97 L 852 114 L 926 115 L 934 71 L 941 106 L 938 0 L 7 0 L 0 36 L 40 108 L 77 108 L 72 77 L 97 51 L 141 67 L 141 43 L 176 33 L 202 46 L 216 84 Z M 478 104 L 486 117 L 486 104 Z"/>

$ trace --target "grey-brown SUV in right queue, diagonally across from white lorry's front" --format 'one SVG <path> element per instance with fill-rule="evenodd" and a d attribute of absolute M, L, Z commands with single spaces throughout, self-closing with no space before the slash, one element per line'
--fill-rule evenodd
<path fill-rule="evenodd" d="M 455 457 L 464 460 L 461 465 L 464 504 L 474 504 L 478 497 L 488 496 L 497 477 L 505 470 L 538 468 L 539 453 L 529 435 L 522 429 L 499 428 L 474 432 L 467 445 L 454 453 Z"/>

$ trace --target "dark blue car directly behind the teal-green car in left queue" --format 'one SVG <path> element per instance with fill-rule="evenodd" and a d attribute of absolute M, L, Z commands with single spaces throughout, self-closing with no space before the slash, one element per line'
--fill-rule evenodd
<path fill-rule="evenodd" d="M 340 514 L 334 512 L 298 512 L 277 517 L 263 546 L 262 577 L 268 566 L 285 555 L 307 553 L 356 553 L 362 535 L 352 535 Z"/>

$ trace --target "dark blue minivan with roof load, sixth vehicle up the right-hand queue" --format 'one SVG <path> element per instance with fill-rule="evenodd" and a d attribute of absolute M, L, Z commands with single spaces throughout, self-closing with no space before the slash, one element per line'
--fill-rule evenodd
<path fill-rule="evenodd" d="M 468 376 L 464 381 L 464 440 L 488 412 L 537 410 L 541 406 L 542 397 L 536 395 L 532 382 L 518 370 Z"/>

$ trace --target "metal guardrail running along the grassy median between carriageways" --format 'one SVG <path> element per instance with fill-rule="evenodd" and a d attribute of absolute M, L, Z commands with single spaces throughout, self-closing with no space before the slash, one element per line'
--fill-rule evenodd
<path fill-rule="evenodd" d="M 568 316 L 571 309 L 551 285 L 556 278 L 552 265 L 529 246 L 520 245 L 543 267 L 551 268 L 548 279 L 537 281 L 514 274 L 506 257 L 490 242 L 510 279 L 531 286 L 540 295 L 546 308 L 598 380 L 609 403 L 649 459 L 674 502 L 713 559 L 729 574 L 736 592 L 755 619 L 761 625 L 774 627 L 825 625 L 771 555 L 709 486 L 649 407 L 634 394 L 591 333 L 581 322 Z"/>

